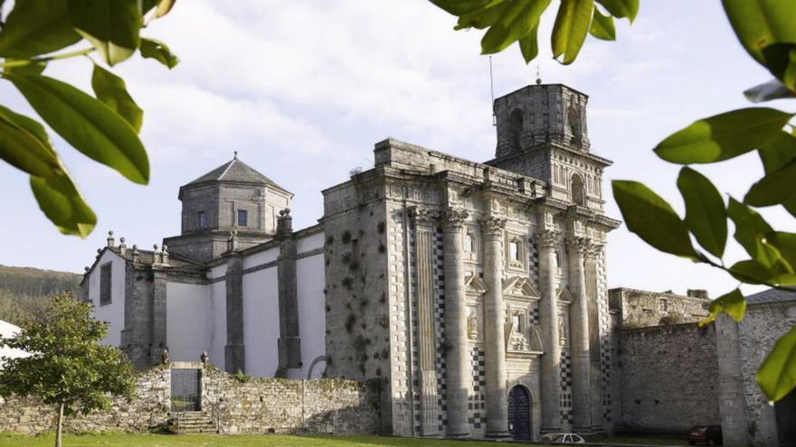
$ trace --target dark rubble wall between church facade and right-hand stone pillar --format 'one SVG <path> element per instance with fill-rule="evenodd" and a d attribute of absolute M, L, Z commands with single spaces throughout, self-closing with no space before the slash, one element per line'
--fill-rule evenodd
<path fill-rule="evenodd" d="M 686 433 L 720 424 L 713 324 L 619 331 L 621 420 L 625 432 Z"/>

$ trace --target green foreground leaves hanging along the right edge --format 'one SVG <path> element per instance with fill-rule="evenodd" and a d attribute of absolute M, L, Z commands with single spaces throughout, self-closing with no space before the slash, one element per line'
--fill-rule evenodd
<path fill-rule="evenodd" d="M 725 13 L 744 49 L 776 77 L 744 92 L 753 102 L 796 96 L 796 5 L 792 2 L 725 0 Z M 762 20 L 762 19 L 765 20 Z M 769 107 L 749 107 L 697 120 L 668 136 L 654 152 L 670 163 L 684 164 L 678 190 L 686 204 L 680 219 L 668 202 L 638 182 L 614 181 L 614 198 L 628 229 L 650 246 L 724 270 L 745 284 L 764 284 L 796 293 L 796 233 L 777 231 L 755 208 L 782 206 L 796 217 L 796 136 L 794 114 Z M 689 164 L 719 163 L 756 151 L 765 172 L 743 201 L 722 198 L 714 184 Z M 630 188 L 632 186 L 632 188 Z M 660 219 L 640 219 L 651 212 Z M 727 221 L 748 259 L 726 265 Z M 673 223 L 671 223 L 673 222 Z M 683 231 L 686 228 L 686 231 Z M 696 250 L 691 236 L 706 253 Z M 687 247 L 687 248 L 683 248 Z M 746 300 L 739 289 L 710 303 L 700 324 L 726 313 L 742 321 Z M 796 388 L 796 327 L 778 340 L 758 370 L 757 382 L 771 401 Z"/>

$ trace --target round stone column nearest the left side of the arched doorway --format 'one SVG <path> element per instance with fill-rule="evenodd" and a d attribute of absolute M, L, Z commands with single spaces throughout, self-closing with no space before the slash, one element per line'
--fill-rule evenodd
<path fill-rule="evenodd" d="M 503 228 L 506 219 L 481 221 L 484 232 L 484 354 L 487 364 L 487 436 L 508 436 L 506 393 L 506 310 L 503 305 Z"/>

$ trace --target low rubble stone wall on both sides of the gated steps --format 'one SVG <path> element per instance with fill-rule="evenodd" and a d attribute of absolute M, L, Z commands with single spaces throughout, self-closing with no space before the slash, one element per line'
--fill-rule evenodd
<path fill-rule="evenodd" d="M 202 370 L 203 412 L 217 418 L 220 433 L 376 433 L 379 393 L 355 380 L 248 378 L 209 367 Z M 113 399 L 108 412 L 66 419 L 69 432 L 147 431 L 171 417 L 169 368 L 138 377 L 136 396 Z M 0 433 L 42 433 L 55 426 L 55 410 L 34 399 L 0 401 Z"/>

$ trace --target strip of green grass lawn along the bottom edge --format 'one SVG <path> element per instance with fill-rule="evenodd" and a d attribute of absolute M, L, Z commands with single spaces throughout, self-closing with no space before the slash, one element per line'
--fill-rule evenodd
<path fill-rule="evenodd" d="M 55 436 L 0 434 L 0 447 L 51 447 Z M 504 444 L 512 445 L 512 444 Z M 448 441 L 389 436 L 282 436 L 277 434 L 65 434 L 64 447 L 496 447 L 495 442 Z"/>

